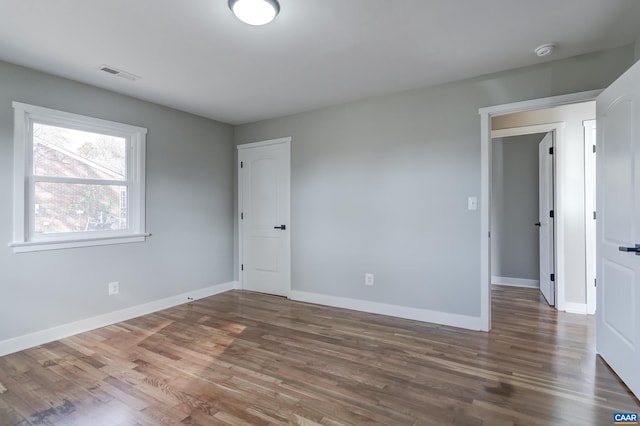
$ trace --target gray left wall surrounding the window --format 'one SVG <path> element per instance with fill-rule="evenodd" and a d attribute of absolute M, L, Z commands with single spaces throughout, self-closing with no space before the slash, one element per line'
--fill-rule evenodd
<path fill-rule="evenodd" d="M 135 84 L 125 82 L 123 84 Z M 14 254 L 21 101 L 146 127 L 144 243 Z M 233 280 L 231 126 L 0 62 L 0 340 Z M 107 296 L 107 283 L 120 294 Z"/>

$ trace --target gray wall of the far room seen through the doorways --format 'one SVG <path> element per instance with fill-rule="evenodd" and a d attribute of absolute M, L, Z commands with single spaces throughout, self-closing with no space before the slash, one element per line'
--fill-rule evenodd
<path fill-rule="evenodd" d="M 544 134 L 493 140 L 491 275 L 539 280 L 538 144 Z"/>

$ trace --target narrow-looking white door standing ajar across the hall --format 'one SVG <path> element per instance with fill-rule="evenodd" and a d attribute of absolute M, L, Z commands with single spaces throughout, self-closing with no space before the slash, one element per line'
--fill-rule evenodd
<path fill-rule="evenodd" d="M 553 239 L 553 132 L 538 146 L 539 167 L 539 236 L 540 236 L 540 291 L 547 303 L 555 306 L 555 265 Z"/>

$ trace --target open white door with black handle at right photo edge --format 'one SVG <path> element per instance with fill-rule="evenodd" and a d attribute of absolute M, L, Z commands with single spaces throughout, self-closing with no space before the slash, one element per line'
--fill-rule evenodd
<path fill-rule="evenodd" d="M 596 108 L 596 348 L 640 397 L 640 63 Z"/>

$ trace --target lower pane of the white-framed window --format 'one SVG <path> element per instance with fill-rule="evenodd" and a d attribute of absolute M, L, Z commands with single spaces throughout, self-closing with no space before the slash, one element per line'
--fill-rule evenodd
<path fill-rule="evenodd" d="M 36 182 L 38 234 L 127 228 L 127 187 Z"/>

